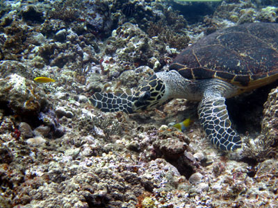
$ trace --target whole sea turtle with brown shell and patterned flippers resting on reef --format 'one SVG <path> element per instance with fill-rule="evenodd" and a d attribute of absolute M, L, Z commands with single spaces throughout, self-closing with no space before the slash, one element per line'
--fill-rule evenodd
<path fill-rule="evenodd" d="M 104 112 L 150 110 L 172 98 L 200 101 L 199 121 L 220 150 L 241 147 L 231 128 L 225 98 L 278 79 L 278 24 L 231 26 L 188 46 L 170 64 L 154 73 L 133 95 L 95 93 L 90 102 Z"/>

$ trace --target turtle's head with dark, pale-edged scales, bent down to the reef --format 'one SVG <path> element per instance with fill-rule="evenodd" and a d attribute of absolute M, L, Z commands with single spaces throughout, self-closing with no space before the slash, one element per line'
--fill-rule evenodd
<path fill-rule="evenodd" d="M 132 96 L 133 112 L 151 110 L 158 105 L 163 105 L 167 98 L 165 83 L 155 73 L 148 80 L 141 83 Z"/>

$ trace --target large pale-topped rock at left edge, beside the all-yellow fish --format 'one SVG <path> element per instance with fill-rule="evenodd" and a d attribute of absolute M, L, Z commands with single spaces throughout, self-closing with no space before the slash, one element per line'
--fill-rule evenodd
<path fill-rule="evenodd" d="M 0 102 L 15 114 L 38 114 L 46 103 L 44 92 L 31 80 L 11 74 L 0 79 Z"/>

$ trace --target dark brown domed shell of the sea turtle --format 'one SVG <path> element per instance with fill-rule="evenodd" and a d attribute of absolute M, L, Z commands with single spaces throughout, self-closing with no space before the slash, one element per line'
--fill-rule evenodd
<path fill-rule="evenodd" d="M 232 26 L 182 51 L 170 65 L 190 80 L 220 78 L 245 89 L 278 78 L 278 24 Z"/>

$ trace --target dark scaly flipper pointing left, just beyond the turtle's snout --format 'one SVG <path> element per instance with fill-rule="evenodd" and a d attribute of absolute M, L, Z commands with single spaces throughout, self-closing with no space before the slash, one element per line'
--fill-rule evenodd
<path fill-rule="evenodd" d="M 112 93 L 96 92 L 92 95 L 92 98 L 89 98 L 89 101 L 103 112 L 123 111 L 131 114 L 133 112 L 131 99 L 132 96 L 126 93 L 116 96 Z"/>

